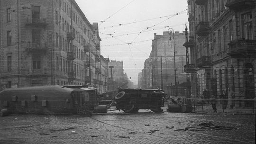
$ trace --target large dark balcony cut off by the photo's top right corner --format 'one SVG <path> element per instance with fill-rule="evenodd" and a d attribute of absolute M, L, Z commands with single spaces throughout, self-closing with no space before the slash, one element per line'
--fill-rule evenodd
<path fill-rule="evenodd" d="M 226 7 L 231 10 L 245 10 L 245 9 L 253 9 L 255 7 L 254 0 L 228 0 L 226 3 Z"/>

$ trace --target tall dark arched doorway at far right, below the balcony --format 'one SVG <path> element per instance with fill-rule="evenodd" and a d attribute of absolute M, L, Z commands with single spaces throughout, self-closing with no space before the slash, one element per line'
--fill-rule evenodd
<path fill-rule="evenodd" d="M 245 84 L 245 99 L 255 98 L 255 82 L 254 82 L 254 69 L 251 63 L 247 63 L 244 68 L 244 84 Z M 253 107 L 253 100 L 246 101 L 245 107 Z"/>

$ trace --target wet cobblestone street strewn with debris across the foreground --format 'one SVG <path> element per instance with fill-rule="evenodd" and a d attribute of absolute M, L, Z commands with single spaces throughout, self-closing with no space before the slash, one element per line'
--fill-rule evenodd
<path fill-rule="evenodd" d="M 255 115 L 10 115 L 0 117 L 0 144 L 255 144 Z"/>

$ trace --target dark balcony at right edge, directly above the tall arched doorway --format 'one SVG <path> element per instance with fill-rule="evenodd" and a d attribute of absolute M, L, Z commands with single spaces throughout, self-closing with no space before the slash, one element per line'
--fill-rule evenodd
<path fill-rule="evenodd" d="M 233 40 L 229 43 L 229 53 L 231 57 L 256 56 L 256 40 L 245 38 Z"/>

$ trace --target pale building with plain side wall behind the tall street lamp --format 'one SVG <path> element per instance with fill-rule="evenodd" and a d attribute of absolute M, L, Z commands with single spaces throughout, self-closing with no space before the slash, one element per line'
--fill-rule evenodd
<path fill-rule="evenodd" d="M 141 78 L 138 81 L 139 87 L 144 89 L 161 88 L 161 56 L 162 56 L 162 76 L 163 88 L 166 92 L 174 85 L 174 41 L 173 33 L 164 32 L 163 35 L 154 34 L 152 40 L 152 51 L 144 63 Z M 170 40 L 170 36 L 171 39 Z M 186 77 L 183 74 L 183 66 L 186 64 L 186 53 L 183 44 L 185 33 L 174 33 L 175 37 L 175 61 L 176 61 L 176 81 L 183 83 Z M 170 92 L 170 91 L 169 91 Z"/>

